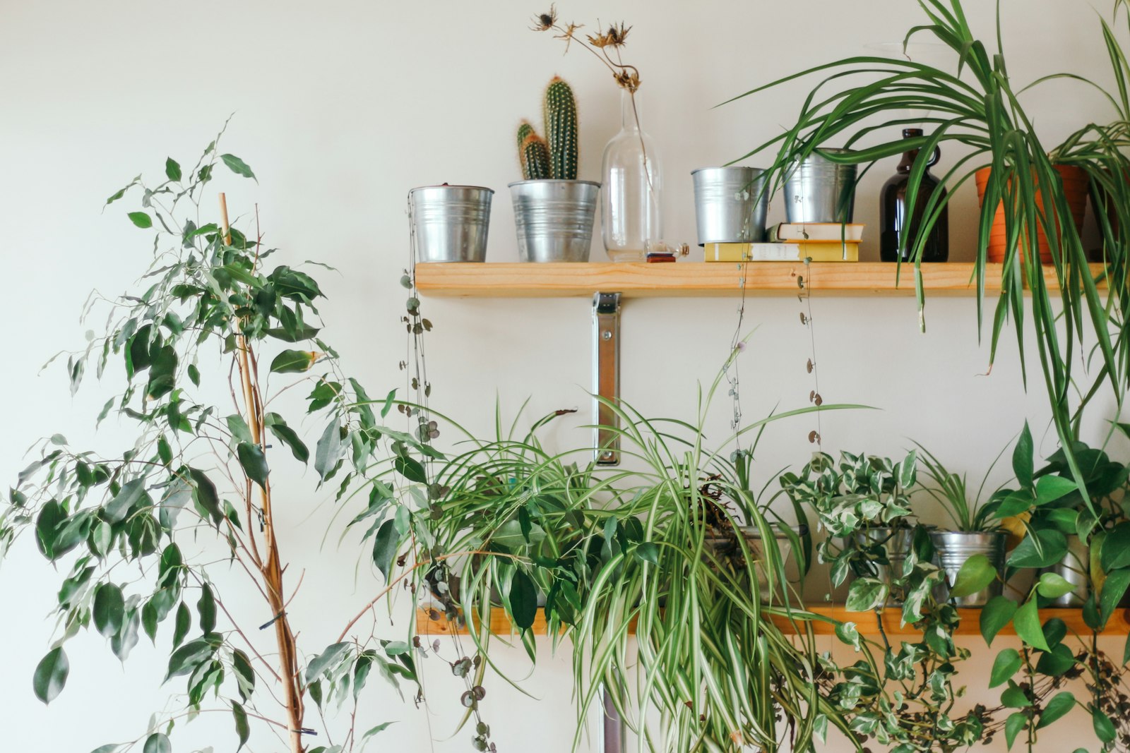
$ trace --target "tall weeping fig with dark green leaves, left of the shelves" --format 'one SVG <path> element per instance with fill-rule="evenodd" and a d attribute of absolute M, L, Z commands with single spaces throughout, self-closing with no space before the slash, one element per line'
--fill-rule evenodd
<path fill-rule="evenodd" d="M 122 660 L 142 634 L 168 653 L 165 681 L 183 683 L 183 708 L 98 753 L 168 752 L 176 723 L 206 710 L 231 713 L 229 750 L 261 720 L 290 753 L 351 751 L 386 726 L 354 729 L 368 678 L 415 683 L 415 660 L 407 641 L 376 637 L 375 611 L 362 622 L 372 605 L 344 615 L 348 625 L 328 647 L 299 646 L 292 599 L 302 577 L 287 571 L 281 520 L 307 509 L 313 490 L 272 482 L 287 464 L 310 464 L 338 500 L 367 500 L 349 525 L 367 526 L 375 568 L 389 579 L 402 541 L 429 541 L 426 504 L 405 505 L 400 493 L 426 499 L 421 458 L 437 453 L 419 435 L 382 426 L 393 393 L 374 403 L 342 373 L 322 338 L 314 278 L 229 227 L 223 202 L 203 205 L 217 167 L 254 178 L 217 141 L 191 169 L 169 158 L 160 182 L 138 176 L 107 200 L 139 198 L 128 219 L 151 235 L 155 257 L 140 290 L 106 301 L 108 332 L 89 333 L 67 369 L 72 392 L 88 371 L 121 373 L 98 422 L 114 414 L 136 438 L 110 454 L 61 435 L 38 443 L 0 509 L 0 553 L 26 535 L 66 573 L 56 636 L 33 678 L 44 703 L 63 691 L 67 645 L 82 631 L 104 636 Z M 216 209 L 216 220 L 201 220 Z M 319 427 L 313 449 L 299 422 Z M 321 716 L 342 704 L 354 715 L 334 742 L 312 707 Z"/>

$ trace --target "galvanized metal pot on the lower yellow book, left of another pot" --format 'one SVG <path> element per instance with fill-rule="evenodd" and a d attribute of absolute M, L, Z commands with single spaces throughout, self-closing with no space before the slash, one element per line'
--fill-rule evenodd
<path fill-rule="evenodd" d="M 763 173 L 757 167 L 703 167 L 690 173 L 699 246 L 765 239 L 770 195 Z"/>

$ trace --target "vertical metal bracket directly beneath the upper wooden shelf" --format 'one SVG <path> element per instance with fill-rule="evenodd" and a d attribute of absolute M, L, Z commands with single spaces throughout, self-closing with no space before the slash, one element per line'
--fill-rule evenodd
<path fill-rule="evenodd" d="M 619 417 L 609 403 L 620 399 L 620 294 L 592 297 L 592 391 L 594 455 L 598 465 L 619 465 Z M 607 401 L 607 402 L 606 402 Z"/>

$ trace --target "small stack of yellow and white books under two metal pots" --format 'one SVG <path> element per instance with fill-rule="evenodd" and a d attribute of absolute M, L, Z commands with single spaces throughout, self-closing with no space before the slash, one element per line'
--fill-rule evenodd
<path fill-rule="evenodd" d="M 862 225 L 782 222 L 768 230 L 768 243 L 707 243 L 707 262 L 858 262 Z"/>

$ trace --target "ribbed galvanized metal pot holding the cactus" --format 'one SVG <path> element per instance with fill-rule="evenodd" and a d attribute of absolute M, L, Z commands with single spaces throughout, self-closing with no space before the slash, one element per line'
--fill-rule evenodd
<path fill-rule="evenodd" d="M 523 262 L 589 261 L 599 183 L 519 181 L 510 184 L 510 195 Z"/>

